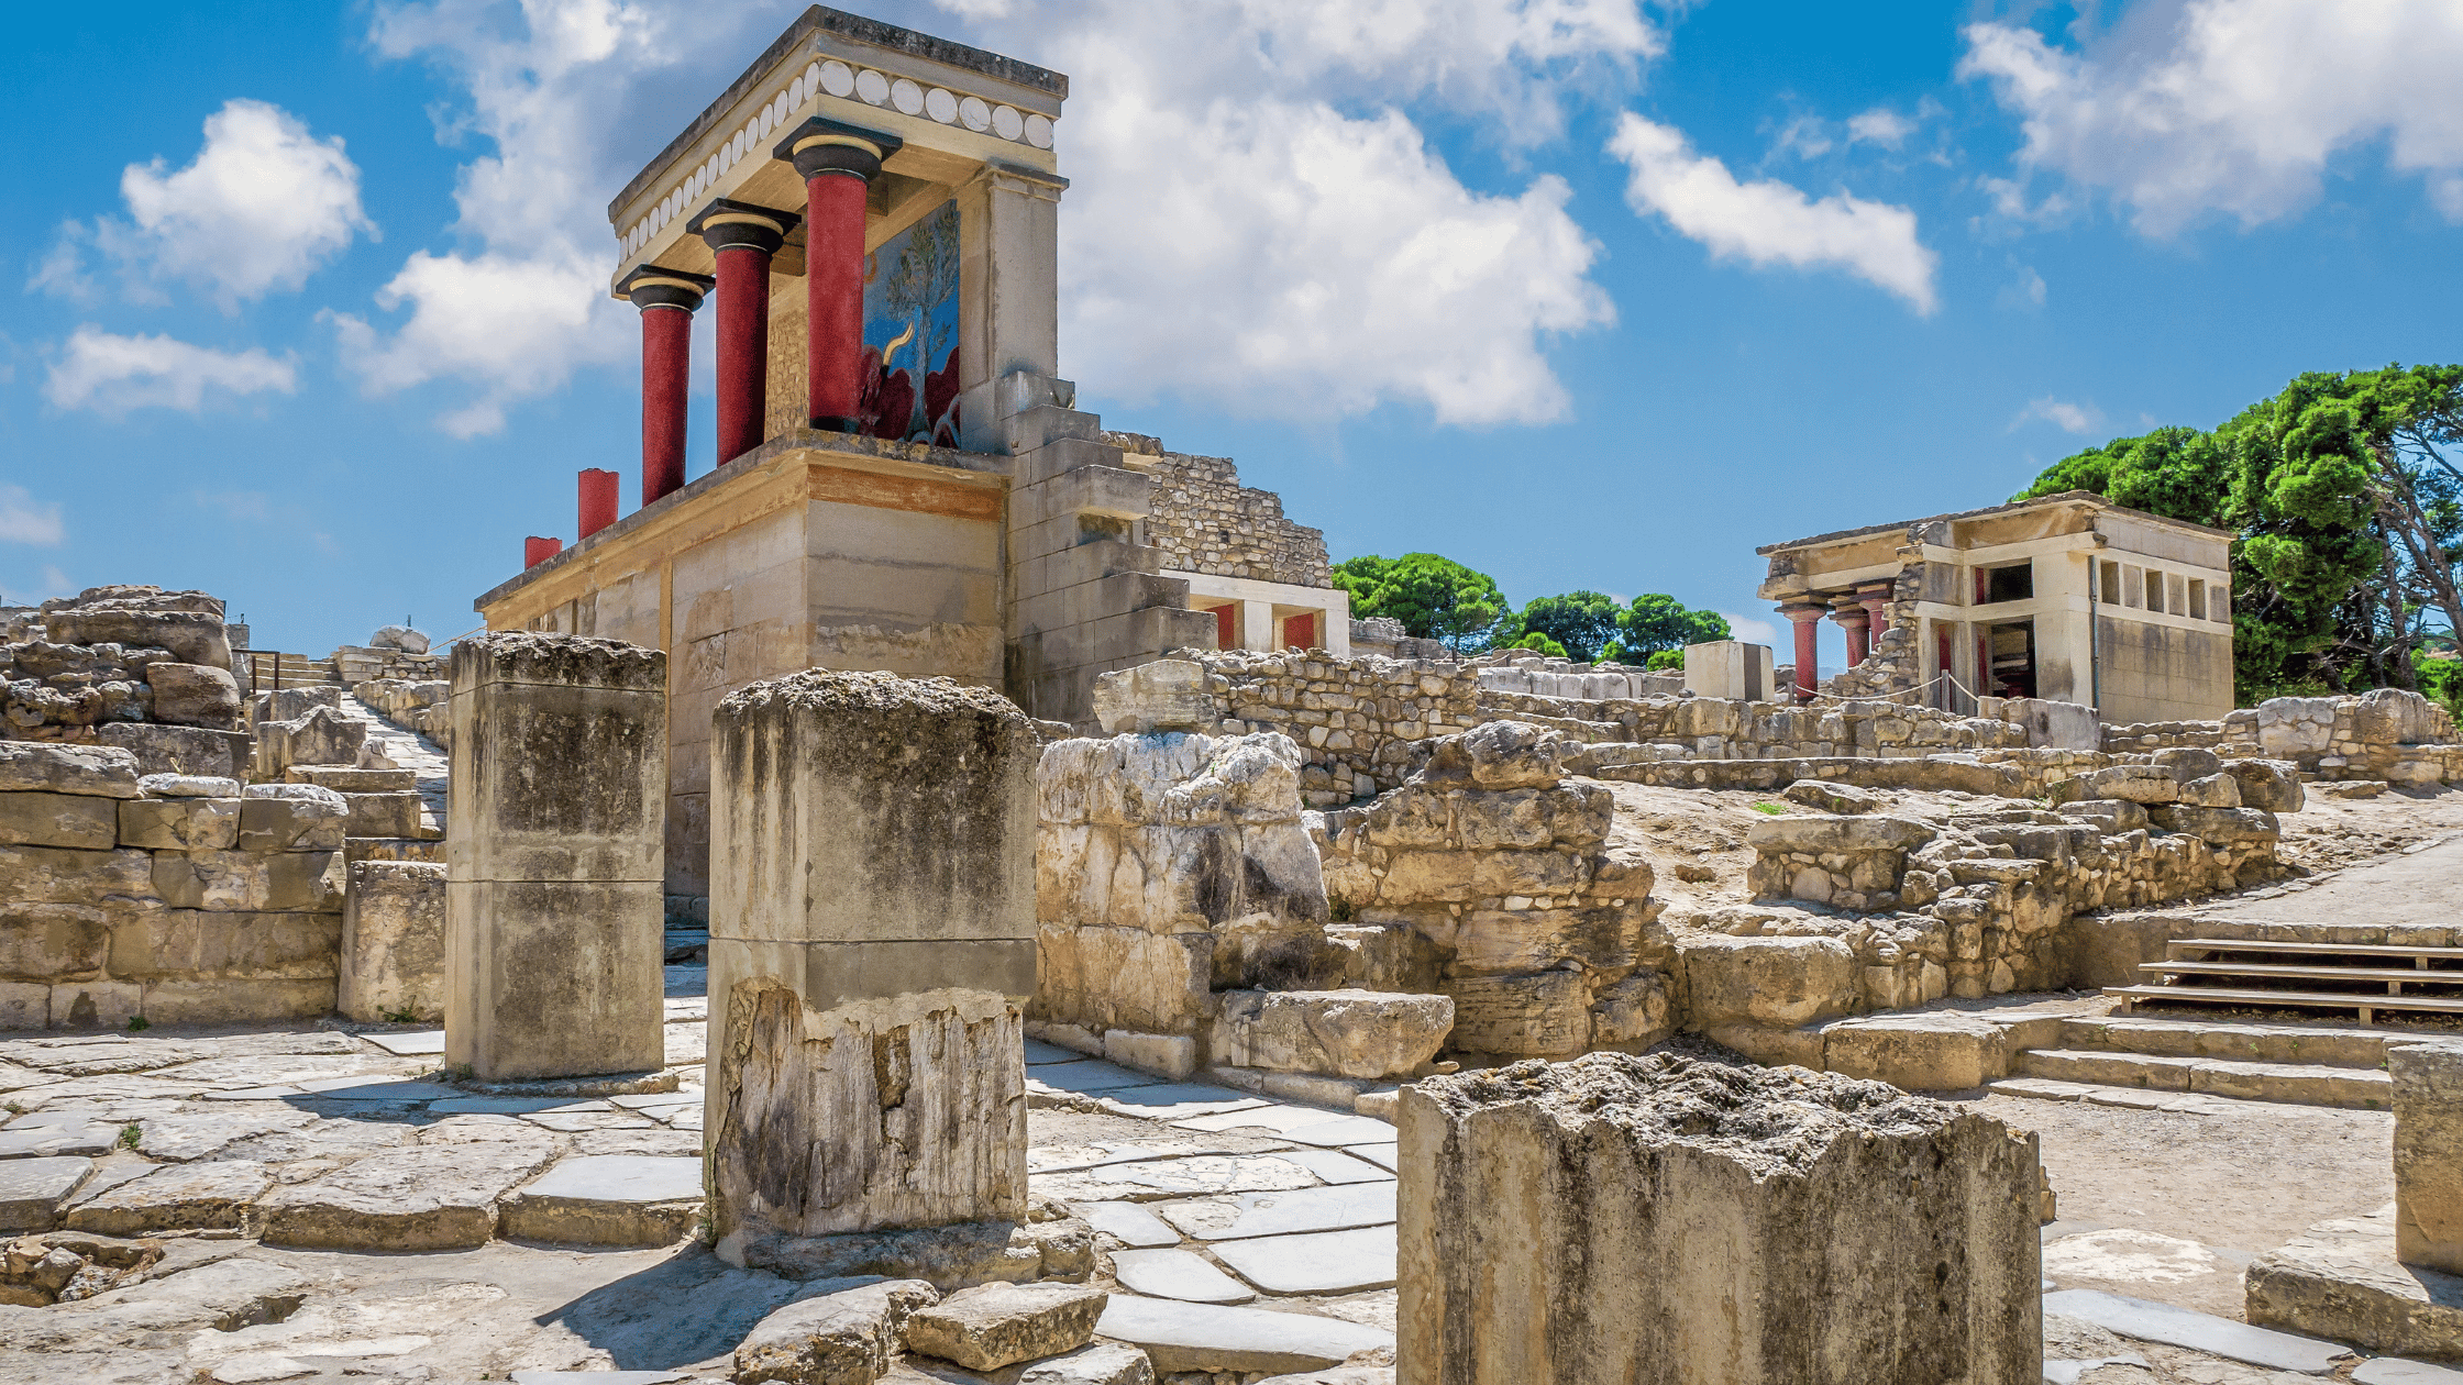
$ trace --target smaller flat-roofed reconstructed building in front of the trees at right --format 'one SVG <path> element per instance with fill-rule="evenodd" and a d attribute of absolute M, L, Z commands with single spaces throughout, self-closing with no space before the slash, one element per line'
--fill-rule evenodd
<path fill-rule="evenodd" d="M 1768 545 L 1761 596 L 1796 623 L 1796 688 L 1820 688 L 1815 623 L 1847 631 L 1835 692 L 1924 690 L 1933 707 L 2044 697 L 2106 722 L 2231 710 L 2231 532 L 2089 490 Z"/>

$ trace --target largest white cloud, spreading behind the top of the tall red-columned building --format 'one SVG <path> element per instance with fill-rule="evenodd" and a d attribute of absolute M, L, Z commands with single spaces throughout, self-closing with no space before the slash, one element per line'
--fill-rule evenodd
<path fill-rule="evenodd" d="M 1426 404 L 1456 424 L 1539 421 L 1564 389 L 1552 333 L 1613 318 L 1596 246 L 1554 177 L 1488 192 L 1429 150 L 1414 104 L 1507 143 L 1623 91 L 1665 47 L 1638 0 L 941 0 L 884 7 L 1071 74 L 1062 121 L 1062 370 L 1091 392 L 1246 414 Z M 470 94 L 456 131 L 470 251 L 414 254 L 379 308 L 335 315 L 372 392 L 470 387 L 478 434 L 574 370 L 638 352 L 606 298 L 601 207 L 761 52 L 776 10 L 534 0 L 507 35 L 483 0 L 379 7 L 374 47 Z M 961 22 L 951 25 L 948 15 Z M 655 111 L 655 113 L 653 113 Z M 621 136 L 621 143 L 618 143 Z"/>

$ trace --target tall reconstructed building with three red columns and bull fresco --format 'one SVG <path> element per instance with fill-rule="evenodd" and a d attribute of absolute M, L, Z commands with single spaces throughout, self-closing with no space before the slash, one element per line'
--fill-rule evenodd
<path fill-rule="evenodd" d="M 1172 648 L 1347 646 L 1323 535 L 1229 463 L 1076 412 L 1066 96 L 815 5 L 608 205 L 611 291 L 643 328 L 643 505 L 618 515 L 621 476 L 584 468 L 579 542 L 527 540 L 478 609 L 670 656 L 672 895 L 709 892 L 712 712 L 749 683 L 946 675 L 1091 727 L 1098 673 Z M 687 483 L 704 308 L 719 466 Z"/>

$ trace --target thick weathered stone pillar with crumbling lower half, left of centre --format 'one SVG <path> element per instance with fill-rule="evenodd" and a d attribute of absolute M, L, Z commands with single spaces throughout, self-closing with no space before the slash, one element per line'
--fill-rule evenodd
<path fill-rule="evenodd" d="M 793 1237 L 1022 1220 L 1034 725 L 946 678 L 796 673 L 709 754 L 709 1217 Z"/>

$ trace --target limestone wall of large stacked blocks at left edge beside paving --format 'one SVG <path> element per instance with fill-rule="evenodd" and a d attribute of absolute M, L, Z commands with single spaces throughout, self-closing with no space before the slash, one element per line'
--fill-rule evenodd
<path fill-rule="evenodd" d="M 0 1030 L 333 1010 L 345 798 L 138 769 L 0 742 Z"/>

